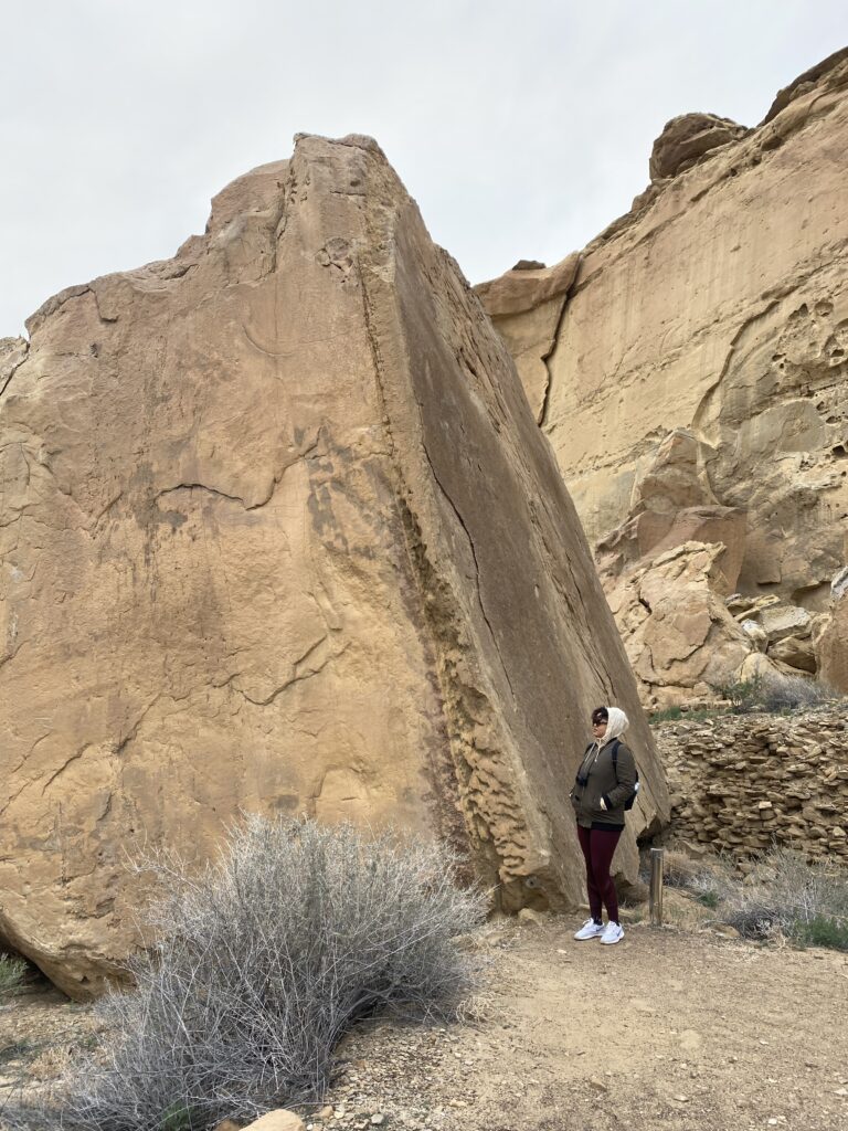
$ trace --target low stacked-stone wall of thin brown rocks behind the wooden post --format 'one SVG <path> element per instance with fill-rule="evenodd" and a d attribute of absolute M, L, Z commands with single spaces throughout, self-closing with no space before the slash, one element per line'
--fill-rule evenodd
<path fill-rule="evenodd" d="M 744 860 L 785 845 L 848 865 L 848 714 L 737 715 L 666 723 L 657 744 L 669 834 Z"/>

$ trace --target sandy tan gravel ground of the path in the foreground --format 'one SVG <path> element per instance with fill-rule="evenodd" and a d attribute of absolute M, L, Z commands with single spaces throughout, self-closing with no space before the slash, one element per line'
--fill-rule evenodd
<path fill-rule="evenodd" d="M 848 1128 L 848 956 L 642 925 L 602 947 L 573 942 L 578 925 L 564 917 L 493 931 L 493 990 L 479 1020 L 382 1021 L 352 1035 L 327 1099 L 334 1113 L 303 1113 L 308 1124 Z M 20 1004 L 0 1013 L 0 1050 L 12 1028 L 15 1039 L 26 1036 L 26 1011 L 31 1028 L 67 1033 L 70 1021 L 81 1034 L 88 1024 L 80 1007 L 55 999 Z"/>

